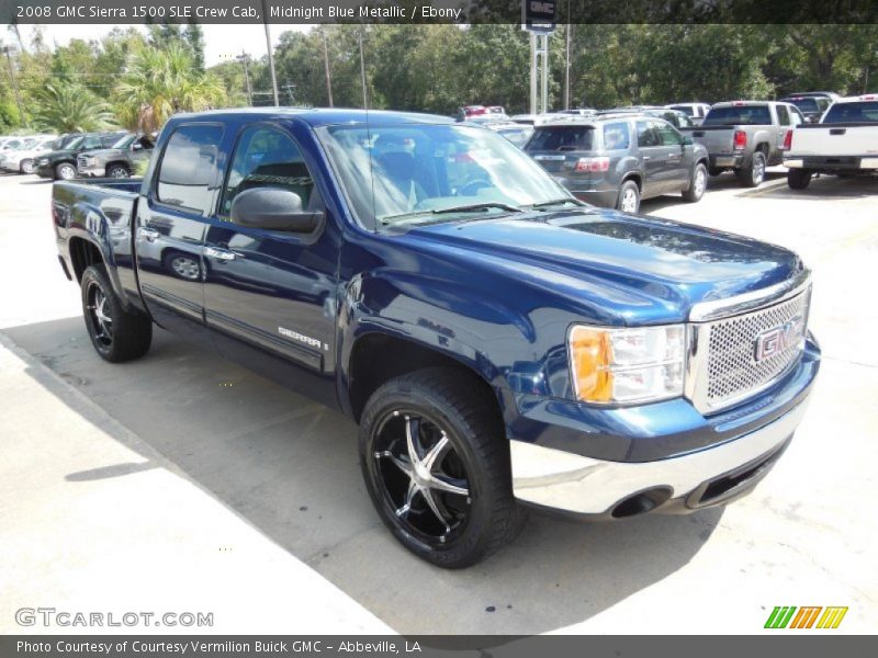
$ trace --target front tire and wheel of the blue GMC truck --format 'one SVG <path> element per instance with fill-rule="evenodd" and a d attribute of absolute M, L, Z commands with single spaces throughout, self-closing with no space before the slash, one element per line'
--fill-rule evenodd
<path fill-rule="evenodd" d="M 427 368 L 381 386 L 360 419 L 360 467 L 375 510 L 403 546 L 439 567 L 484 559 L 526 519 L 489 395 L 465 374 Z M 420 470 L 410 468 L 412 450 Z"/>

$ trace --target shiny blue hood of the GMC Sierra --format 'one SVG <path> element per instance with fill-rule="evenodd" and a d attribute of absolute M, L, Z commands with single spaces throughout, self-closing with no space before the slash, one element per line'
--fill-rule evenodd
<path fill-rule="evenodd" d="M 519 285 L 582 303 L 604 321 L 683 321 L 699 302 L 764 288 L 803 265 L 781 247 L 709 228 L 577 208 L 435 224 L 407 234 L 447 254 L 494 261 Z"/>

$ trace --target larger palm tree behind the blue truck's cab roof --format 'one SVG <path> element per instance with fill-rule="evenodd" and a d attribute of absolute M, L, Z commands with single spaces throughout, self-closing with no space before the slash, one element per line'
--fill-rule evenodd
<path fill-rule="evenodd" d="M 218 105 L 225 99 L 225 88 L 212 73 L 198 70 L 189 49 L 171 44 L 133 53 L 116 88 L 116 99 L 128 127 L 151 133 L 176 112 Z"/>

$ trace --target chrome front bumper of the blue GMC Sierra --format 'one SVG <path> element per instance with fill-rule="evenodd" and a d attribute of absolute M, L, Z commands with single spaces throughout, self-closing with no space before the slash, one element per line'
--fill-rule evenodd
<path fill-rule="evenodd" d="M 604 462 L 510 441 L 513 490 L 524 502 L 574 514 L 605 515 L 642 491 L 663 488 L 679 499 L 779 449 L 802 419 L 807 398 L 774 422 L 714 447 L 657 462 Z"/>

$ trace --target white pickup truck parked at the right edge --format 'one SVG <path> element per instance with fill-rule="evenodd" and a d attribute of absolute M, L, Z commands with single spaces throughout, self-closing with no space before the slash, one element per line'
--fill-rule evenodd
<path fill-rule="evenodd" d="M 814 173 L 878 173 L 878 94 L 838 99 L 819 124 L 796 128 L 784 164 L 792 190 L 804 190 Z"/>

